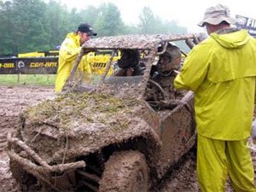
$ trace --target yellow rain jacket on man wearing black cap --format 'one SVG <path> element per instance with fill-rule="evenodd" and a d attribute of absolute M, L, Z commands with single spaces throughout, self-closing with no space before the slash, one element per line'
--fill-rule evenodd
<path fill-rule="evenodd" d="M 59 66 L 55 79 L 55 92 L 60 92 L 62 90 L 80 50 L 79 36 L 75 32 L 68 33 L 61 44 L 59 53 Z M 83 73 L 91 73 L 90 65 L 86 61 L 85 55 L 79 63 L 79 71 L 82 71 Z"/>

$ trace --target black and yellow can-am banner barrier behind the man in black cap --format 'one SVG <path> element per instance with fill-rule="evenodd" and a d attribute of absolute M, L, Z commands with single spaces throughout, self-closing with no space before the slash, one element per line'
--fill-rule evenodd
<path fill-rule="evenodd" d="M 44 55 L 41 55 L 43 53 Z M 0 74 L 55 74 L 58 68 L 57 52 L 31 52 L 14 55 L 0 55 Z M 97 50 L 86 56 L 89 62 L 91 73 L 102 74 L 111 57 L 109 50 Z M 113 56 L 113 65 L 120 58 L 120 52 Z M 113 73 L 113 66 L 109 73 Z"/>

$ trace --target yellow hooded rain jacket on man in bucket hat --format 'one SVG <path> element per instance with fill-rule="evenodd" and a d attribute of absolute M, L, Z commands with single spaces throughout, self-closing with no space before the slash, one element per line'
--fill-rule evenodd
<path fill-rule="evenodd" d="M 255 39 L 245 30 L 214 32 L 191 50 L 174 86 L 195 91 L 198 134 L 241 140 L 251 132 L 255 77 Z"/>

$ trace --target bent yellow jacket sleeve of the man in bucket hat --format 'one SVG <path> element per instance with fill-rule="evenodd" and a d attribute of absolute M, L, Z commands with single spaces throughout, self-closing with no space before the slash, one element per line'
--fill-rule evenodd
<path fill-rule="evenodd" d="M 200 45 L 195 46 L 183 63 L 181 73 L 174 79 L 177 90 L 195 91 L 207 76 L 209 56 Z"/>

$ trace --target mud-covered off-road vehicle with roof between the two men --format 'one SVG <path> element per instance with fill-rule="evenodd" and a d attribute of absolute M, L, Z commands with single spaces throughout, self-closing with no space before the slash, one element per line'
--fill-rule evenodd
<path fill-rule="evenodd" d="M 131 35 L 86 42 L 63 93 L 26 108 L 19 129 L 8 135 L 10 170 L 22 189 L 148 191 L 195 144 L 193 94 L 180 92 L 163 108 L 170 93 L 152 78 L 168 44 L 191 40 L 194 35 Z M 84 82 L 75 71 L 95 49 L 112 56 L 102 76 Z M 111 67 L 118 72 L 109 75 Z"/>

